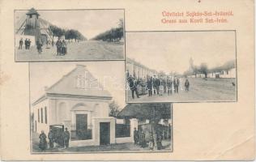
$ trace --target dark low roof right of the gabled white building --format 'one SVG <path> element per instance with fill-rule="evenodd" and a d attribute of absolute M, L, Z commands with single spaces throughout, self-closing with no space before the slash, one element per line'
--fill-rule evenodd
<path fill-rule="evenodd" d="M 126 107 L 117 114 L 118 118 L 145 118 L 170 119 L 172 104 L 126 104 Z"/>

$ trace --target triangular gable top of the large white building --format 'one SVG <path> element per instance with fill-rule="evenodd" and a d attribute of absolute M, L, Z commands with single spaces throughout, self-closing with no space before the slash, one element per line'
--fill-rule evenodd
<path fill-rule="evenodd" d="M 76 78 L 78 75 L 87 74 L 88 87 L 77 87 Z M 105 99 L 111 100 L 112 96 L 83 65 L 77 65 L 74 70 L 64 75 L 58 82 L 45 89 L 45 95 L 41 96 L 33 104 L 45 100 L 48 96 L 69 96 L 75 98 Z"/>

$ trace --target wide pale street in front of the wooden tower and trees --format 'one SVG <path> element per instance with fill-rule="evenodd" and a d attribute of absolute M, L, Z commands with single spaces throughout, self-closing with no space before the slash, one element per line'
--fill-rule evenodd
<path fill-rule="evenodd" d="M 67 53 L 64 56 L 57 56 L 56 45 L 42 47 L 43 52 L 38 54 L 36 46 L 26 50 L 15 49 L 16 61 L 83 61 L 83 60 L 117 60 L 124 59 L 123 43 L 85 40 L 77 42 L 66 42 Z"/>

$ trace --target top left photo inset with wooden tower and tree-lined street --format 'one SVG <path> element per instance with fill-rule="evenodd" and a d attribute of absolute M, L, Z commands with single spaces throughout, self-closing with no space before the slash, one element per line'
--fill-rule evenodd
<path fill-rule="evenodd" d="M 124 9 L 15 10 L 15 62 L 125 60 Z"/>

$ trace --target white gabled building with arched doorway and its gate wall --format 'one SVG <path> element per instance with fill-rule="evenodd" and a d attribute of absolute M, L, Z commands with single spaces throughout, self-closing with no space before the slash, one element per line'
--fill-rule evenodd
<path fill-rule="evenodd" d="M 132 142 L 132 133 L 115 137 L 116 119 L 109 117 L 111 99 L 86 67 L 78 65 L 32 103 L 34 131 L 47 134 L 50 126 L 66 127 L 71 147 Z M 131 126 L 136 123 L 130 121 Z"/>

